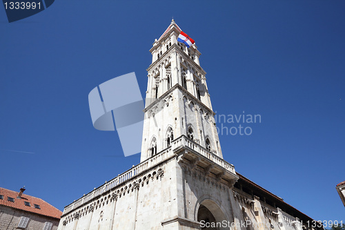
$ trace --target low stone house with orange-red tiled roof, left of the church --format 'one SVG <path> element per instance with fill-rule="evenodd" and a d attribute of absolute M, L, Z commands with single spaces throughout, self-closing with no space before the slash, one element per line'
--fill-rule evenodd
<path fill-rule="evenodd" d="M 25 190 L 0 188 L 0 229 L 56 230 L 62 212 Z"/>

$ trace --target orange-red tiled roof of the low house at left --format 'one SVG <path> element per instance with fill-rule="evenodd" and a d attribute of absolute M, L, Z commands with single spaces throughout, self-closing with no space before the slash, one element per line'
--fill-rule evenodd
<path fill-rule="evenodd" d="M 11 191 L 8 189 L 0 188 L 0 195 L 3 195 L 3 200 L 0 199 L 0 205 L 60 219 L 62 212 L 59 209 L 53 207 L 51 204 L 48 204 L 40 198 L 35 198 L 24 193 L 23 195 L 21 195 L 21 198 L 17 198 L 18 194 L 19 191 Z M 8 197 L 14 198 L 14 202 L 9 201 Z M 30 202 L 30 207 L 26 206 L 24 202 Z M 35 208 L 34 204 L 38 204 L 41 209 Z"/>

